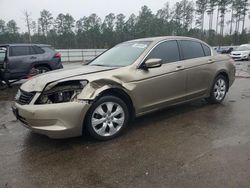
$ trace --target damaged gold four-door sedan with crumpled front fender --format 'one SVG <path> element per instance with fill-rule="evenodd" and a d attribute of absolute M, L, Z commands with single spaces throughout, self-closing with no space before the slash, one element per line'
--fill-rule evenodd
<path fill-rule="evenodd" d="M 24 83 L 13 112 L 51 138 L 120 135 L 134 118 L 205 98 L 221 103 L 235 79 L 234 61 L 187 37 L 121 43 L 82 68 L 46 73 Z"/>

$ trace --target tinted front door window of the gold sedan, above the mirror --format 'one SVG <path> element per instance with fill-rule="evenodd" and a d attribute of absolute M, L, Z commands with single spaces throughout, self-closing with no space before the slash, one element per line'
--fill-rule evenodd
<path fill-rule="evenodd" d="M 175 40 L 166 41 L 156 46 L 147 59 L 159 58 L 162 63 L 171 63 L 180 60 L 178 44 Z"/>

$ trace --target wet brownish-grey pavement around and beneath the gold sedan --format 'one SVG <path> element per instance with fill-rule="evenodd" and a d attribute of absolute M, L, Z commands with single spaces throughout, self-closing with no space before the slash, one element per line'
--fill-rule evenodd
<path fill-rule="evenodd" d="M 221 105 L 205 101 L 137 119 L 120 138 L 52 140 L 0 95 L 0 187 L 250 187 L 250 79 Z"/>

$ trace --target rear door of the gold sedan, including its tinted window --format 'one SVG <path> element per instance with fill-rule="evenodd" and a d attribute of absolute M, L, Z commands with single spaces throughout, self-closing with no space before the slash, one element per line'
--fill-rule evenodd
<path fill-rule="evenodd" d="M 198 41 L 180 40 L 178 43 L 187 70 L 187 99 L 201 97 L 211 83 L 211 64 L 214 63 L 211 49 Z"/>

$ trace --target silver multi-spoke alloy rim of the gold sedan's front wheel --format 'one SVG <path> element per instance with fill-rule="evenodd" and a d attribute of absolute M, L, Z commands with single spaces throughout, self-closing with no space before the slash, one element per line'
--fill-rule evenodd
<path fill-rule="evenodd" d="M 112 136 L 122 128 L 124 120 L 123 108 L 117 103 L 106 102 L 95 109 L 91 125 L 98 135 Z"/>

